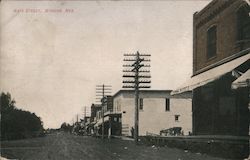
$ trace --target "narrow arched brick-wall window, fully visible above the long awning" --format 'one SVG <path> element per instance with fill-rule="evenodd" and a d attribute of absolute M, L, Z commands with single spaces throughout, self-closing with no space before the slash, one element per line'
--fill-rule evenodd
<path fill-rule="evenodd" d="M 207 31 L 207 59 L 216 56 L 217 50 L 217 27 L 213 26 Z"/>

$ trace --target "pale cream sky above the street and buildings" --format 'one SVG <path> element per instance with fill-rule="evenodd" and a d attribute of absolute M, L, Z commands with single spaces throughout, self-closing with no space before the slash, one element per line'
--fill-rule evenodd
<path fill-rule="evenodd" d="M 151 89 L 192 75 L 192 19 L 210 0 L 2 1 L 0 92 L 58 128 L 88 113 L 96 85 L 122 89 L 123 54 L 151 54 Z"/>

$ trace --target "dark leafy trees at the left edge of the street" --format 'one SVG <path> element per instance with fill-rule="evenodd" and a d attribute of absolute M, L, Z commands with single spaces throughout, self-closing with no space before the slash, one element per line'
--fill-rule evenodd
<path fill-rule="evenodd" d="M 13 140 L 43 135 L 43 125 L 35 113 L 17 109 L 10 93 L 2 93 L 1 140 Z"/>

